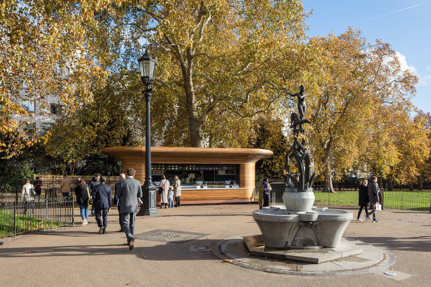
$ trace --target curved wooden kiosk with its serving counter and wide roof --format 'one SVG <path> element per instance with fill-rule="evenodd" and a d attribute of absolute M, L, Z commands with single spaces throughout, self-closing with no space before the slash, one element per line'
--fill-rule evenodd
<path fill-rule="evenodd" d="M 116 146 L 103 148 L 102 152 L 116 157 L 123 163 L 123 172 L 131 167 L 135 179 L 145 181 L 145 147 Z M 175 175 L 182 180 L 181 204 L 234 203 L 253 201 L 256 161 L 273 153 L 254 148 L 177 148 L 151 147 L 153 182 L 161 174 Z M 229 182 L 226 185 L 188 185 L 185 176 L 201 174 L 208 182 Z M 211 175 L 214 178 L 211 178 Z M 187 177 L 187 181 L 188 181 Z M 227 179 L 227 180 L 226 180 Z M 235 185 L 238 182 L 239 185 Z M 157 202 L 160 196 L 157 194 Z"/>

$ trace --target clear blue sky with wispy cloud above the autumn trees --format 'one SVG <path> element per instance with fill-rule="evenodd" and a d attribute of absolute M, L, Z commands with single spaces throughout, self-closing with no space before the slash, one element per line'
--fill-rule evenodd
<path fill-rule="evenodd" d="M 431 112 L 431 0 L 303 0 L 303 6 L 314 9 L 306 20 L 309 36 L 341 34 L 350 25 L 370 43 L 390 43 L 403 67 L 419 77 L 413 104 Z"/>

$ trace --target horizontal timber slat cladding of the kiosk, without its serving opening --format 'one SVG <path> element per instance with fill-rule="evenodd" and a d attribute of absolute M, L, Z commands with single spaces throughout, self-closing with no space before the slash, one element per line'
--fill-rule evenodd
<path fill-rule="evenodd" d="M 123 172 L 131 167 L 136 170 L 135 179 L 144 184 L 145 181 L 145 147 L 144 146 L 116 146 L 103 148 L 102 152 L 109 154 L 123 163 Z M 181 201 L 225 201 L 244 200 L 253 198 L 255 185 L 256 161 L 269 157 L 273 153 L 267 149 L 254 148 L 176 148 L 151 147 L 152 164 L 238 164 L 238 188 L 203 188 L 202 190 L 181 190 Z M 191 170 L 200 172 L 200 170 Z M 242 189 L 244 188 L 244 189 Z M 157 201 L 160 196 L 157 194 Z"/>

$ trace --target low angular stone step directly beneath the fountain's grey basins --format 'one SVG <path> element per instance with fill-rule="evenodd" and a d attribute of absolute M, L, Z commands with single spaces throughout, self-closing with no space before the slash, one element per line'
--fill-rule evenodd
<path fill-rule="evenodd" d="M 244 243 L 251 256 L 268 257 L 281 260 L 297 260 L 309 263 L 323 263 L 362 253 L 356 244 L 343 241 L 338 247 L 322 248 L 305 246 L 302 249 L 274 248 L 265 246 L 262 234 L 244 236 Z M 296 246 L 296 248 L 300 248 Z"/>

